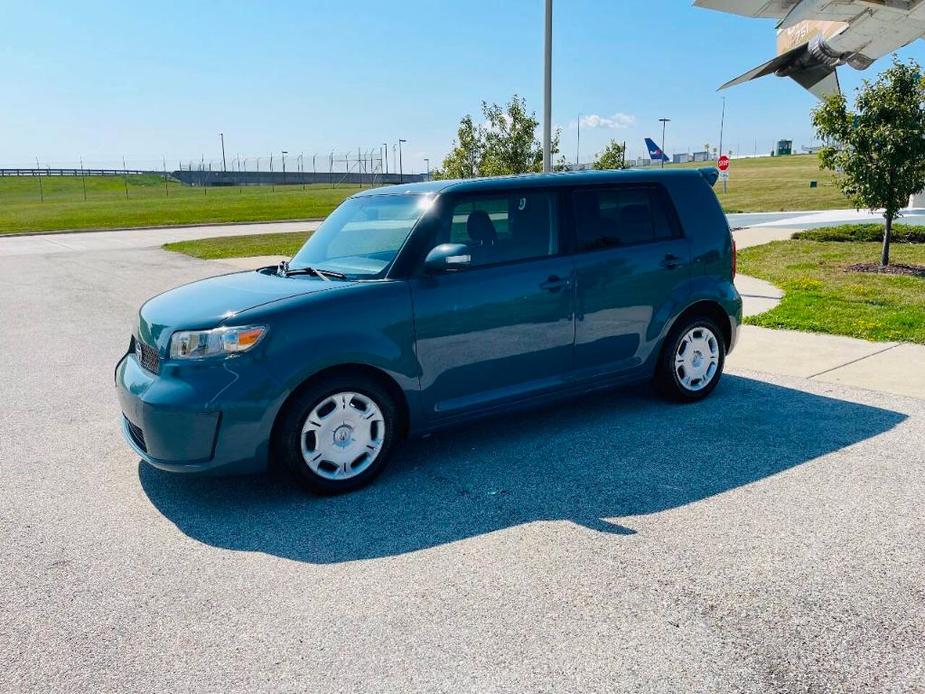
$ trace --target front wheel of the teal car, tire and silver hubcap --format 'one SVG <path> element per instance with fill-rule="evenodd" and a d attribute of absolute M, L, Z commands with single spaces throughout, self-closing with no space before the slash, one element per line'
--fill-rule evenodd
<path fill-rule="evenodd" d="M 340 494 L 369 484 L 385 468 L 398 410 L 375 381 L 335 376 L 309 385 L 289 403 L 276 450 L 314 494 Z"/>

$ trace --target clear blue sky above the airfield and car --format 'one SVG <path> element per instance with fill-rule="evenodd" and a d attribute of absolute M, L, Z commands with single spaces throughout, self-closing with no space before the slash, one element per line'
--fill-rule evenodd
<path fill-rule="evenodd" d="M 719 140 L 716 87 L 768 60 L 773 23 L 686 0 L 557 0 L 553 119 L 582 160 L 612 137 L 630 155 Z M 0 5 L 0 165 L 78 157 L 153 166 L 368 149 L 399 137 L 406 168 L 439 162 L 459 118 L 514 92 L 542 110 L 542 0 L 42 2 Z M 925 64 L 925 42 L 901 51 Z M 849 91 L 873 77 L 842 68 Z M 809 144 L 814 98 L 768 77 L 727 97 L 725 148 Z"/>

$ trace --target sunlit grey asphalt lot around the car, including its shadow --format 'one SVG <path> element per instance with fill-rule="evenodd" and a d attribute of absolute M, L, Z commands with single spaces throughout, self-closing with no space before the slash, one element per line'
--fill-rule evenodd
<path fill-rule="evenodd" d="M 925 690 L 925 401 L 738 371 L 413 442 L 337 498 L 170 476 L 112 369 L 215 272 L 0 257 L 0 691 Z"/>

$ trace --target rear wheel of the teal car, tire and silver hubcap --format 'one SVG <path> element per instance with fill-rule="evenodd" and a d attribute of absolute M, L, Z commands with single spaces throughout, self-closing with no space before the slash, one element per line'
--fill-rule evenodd
<path fill-rule="evenodd" d="M 679 321 L 665 338 L 654 384 L 669 400 L 697 402 L 716 388 L 725 363 L 722 331 L 706 316 L 691 316 Z"/>

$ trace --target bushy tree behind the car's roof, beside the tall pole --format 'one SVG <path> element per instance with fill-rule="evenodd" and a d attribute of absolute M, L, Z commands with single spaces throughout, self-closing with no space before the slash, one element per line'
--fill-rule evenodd
<path fill-rule="evenodd" d="M 485 122 L 476 125 L 472 116 L 459 122 L 452 151 L 443 160 L 436 178 L 504 176 L 543 170 L 543 145 L 536 137 L 539 121 L 516 94 L 506 106 L 482 102 Z M 559 133 L 552 138 L 552 154 L 559 151 Z"/>

